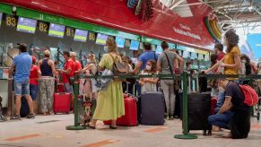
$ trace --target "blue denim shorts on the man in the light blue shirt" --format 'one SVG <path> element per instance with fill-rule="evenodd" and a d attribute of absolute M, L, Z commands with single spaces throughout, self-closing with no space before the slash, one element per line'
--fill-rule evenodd
<path fill-rule="evenodd" d="M 30 95 L 30 83 L 29 79 L 25 79 L 22 82 L 13 82 L 15 95 Z"/>

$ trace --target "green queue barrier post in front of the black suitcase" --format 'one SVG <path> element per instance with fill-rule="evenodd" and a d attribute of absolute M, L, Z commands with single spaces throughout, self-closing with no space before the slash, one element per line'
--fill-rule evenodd
<path fill-rule="evenodd" d="M 197 136 L 189 134 L 187 125 L 187 73 L 182 73 L 183 78 L 183 117 L 182 117 L 182 129 L 183 134 L 176 134 L 174 138 L 177 139 L 196 139 Z"/>

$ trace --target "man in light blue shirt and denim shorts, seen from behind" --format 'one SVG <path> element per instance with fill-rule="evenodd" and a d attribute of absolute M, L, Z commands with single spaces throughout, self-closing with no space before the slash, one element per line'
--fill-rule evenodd
<path fill-rule="evenodd" d="M 15 115 L 13 119 L 21 119 L 20 109 L 21 109 L 21 98 L 22 96 L 28 102 L 30 108 L 30 114 L 27 118 L 34 118 L 32 99 L 30 98 L 30 66 L 32 64 L 31 56 L 27 52 L 26 44 L 19 44 L 20 55 L 14 56 L 13 65 L 11 67 L 11 72 L 14 71 L 13 77 L 13 87 L 15 94 Z"/>

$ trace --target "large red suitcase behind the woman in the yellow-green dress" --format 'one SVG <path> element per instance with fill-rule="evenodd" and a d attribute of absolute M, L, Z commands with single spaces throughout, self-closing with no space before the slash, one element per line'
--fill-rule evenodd
<path fill-rule="evenodd" d="M 116 124 L 122 126 L 135 126 L 137 125 L 137 105 L 136 99 L 132 96 L 125 96 L 125 115 L 117 118 Z M 105 125 L 110 125 L 110 121 L 104 121 Z"/>

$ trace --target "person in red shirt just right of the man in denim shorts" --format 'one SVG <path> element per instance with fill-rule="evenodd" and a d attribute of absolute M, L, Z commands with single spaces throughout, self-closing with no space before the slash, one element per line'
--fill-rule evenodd
<path fill-rule="evenodd" d="M 30 97 L 32 99 L 33 111 L 37 112 L 37 94 L 38 94 L 38 79 L 41 75 L 40 69 L 36 63 L 36 56 L 31 56 L 32 65 L 30 66 Z"/>

